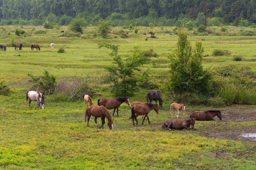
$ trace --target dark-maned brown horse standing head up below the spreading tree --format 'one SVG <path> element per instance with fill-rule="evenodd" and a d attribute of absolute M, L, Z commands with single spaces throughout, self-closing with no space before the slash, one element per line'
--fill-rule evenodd
<path fill-rule="evenodd" d="M 103 105 L 108 110 L 114 109 L 113 116 L 115 114 L 116 109 L 117 109 L 117 116 L 118 116 L 119 106 L 123 102 L 127 103 L 127 105 L 130 105 L 130 101 L 128 97 L 118 97 L 117 99 L 106 99 L 106 98 L 98 99 L 98 105 Z"/>

